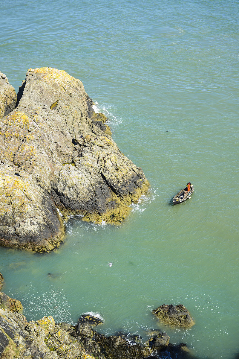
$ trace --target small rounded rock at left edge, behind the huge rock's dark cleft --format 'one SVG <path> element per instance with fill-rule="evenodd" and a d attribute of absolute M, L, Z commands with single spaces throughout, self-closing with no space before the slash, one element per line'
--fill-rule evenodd
<path fill-rule="evenodd" d="M 16 104 L 16 92 L 9 84 L 6 75 L 0 71 L 0 118 L 13 111 Z"/>

